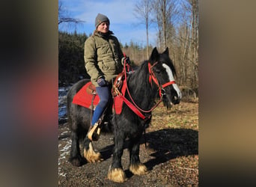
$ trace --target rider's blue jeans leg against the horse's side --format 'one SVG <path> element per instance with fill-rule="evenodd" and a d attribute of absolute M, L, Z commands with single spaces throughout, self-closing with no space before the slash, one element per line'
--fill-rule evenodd
<path fill-rule="evenodd" d="M 111 100 L 110 88 L 108 86 L 96 87 L 96 91 L 100 96 L 100 102 L 94 110 L 94 115 L 91 120 L 91 126 L 94 126 L 94 123 L 99 120 L 100 116 L 103 114 L 103 111 L 106 109 L 109 101 Z"/>

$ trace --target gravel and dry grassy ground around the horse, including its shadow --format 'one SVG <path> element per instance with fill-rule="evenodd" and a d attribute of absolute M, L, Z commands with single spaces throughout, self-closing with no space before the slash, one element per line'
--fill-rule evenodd
<path fill-rule="evenodd" d="M 129 171 L 129 152 L 122 156 L 128 180 L 114 183 L 107 179 L 112 162 L 113 135 L 102 134 L 94 148 L 103 161 L 74 167 L 68 162 L 70 131 L 67 123 L 58 127 L 58 186 L 198 186 L 198 101 L 180 102 L 170 110 L 162 103 L 153 111 L 152 121 L 141 138 L 140 159 L 148 173 Z"/>

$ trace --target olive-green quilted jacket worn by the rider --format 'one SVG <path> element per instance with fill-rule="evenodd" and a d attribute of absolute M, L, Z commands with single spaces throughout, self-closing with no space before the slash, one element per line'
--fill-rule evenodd
<path fill-rule="evenodd" d="M 112 78 L 121 73 L 123 57 L 118 38 L 113 36 L 112 31 L 107 34 L 94 31 L 85 40 L 85 69 L 95 86 L 99 86 L 97 79 L 100 77 L 104 76 L 107 82 L 111 82 Z"/>

